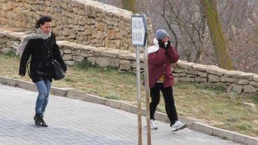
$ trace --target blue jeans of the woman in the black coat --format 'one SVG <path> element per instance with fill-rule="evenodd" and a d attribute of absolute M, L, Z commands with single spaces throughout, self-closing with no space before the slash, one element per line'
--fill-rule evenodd
<path fill-rule="evenodd" d="M 50 95 L 51 82 L 48 79 L 38 81 L 35 83 L 38 89 L 38 97 L 36 100 L 35 111 L 40 116 L 44 115 L 47 107 L 48 96 Z"/>

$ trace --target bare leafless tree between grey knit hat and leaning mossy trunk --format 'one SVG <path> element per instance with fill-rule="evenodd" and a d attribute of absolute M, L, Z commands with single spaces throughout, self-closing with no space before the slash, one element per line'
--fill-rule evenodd
<path fill-rule="evenodd" d="M 159 3 L 160 4 L 160 3 Z M 189 61 L 201 61 L 205 34 L 205 17 L 198 0 L 163 0 L 160 16 L 171 31 L 176 47 L 184 48 Z"/>

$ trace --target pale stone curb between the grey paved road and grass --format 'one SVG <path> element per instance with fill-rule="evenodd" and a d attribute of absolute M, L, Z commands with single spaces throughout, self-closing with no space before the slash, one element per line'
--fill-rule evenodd
<path fill-rule="evenodd" d="M 3 85 L 8 85 L 8 86 L 14 86 L 14 87 L 19 87 L 19 88 L 24 88 L 30 91 L 37 91 L 37 88 L 34 83 L 30 83 L 27 81 L 21 81 L 18 79 L 10 79 L 7 77 L 2 77 L 0 76 L 0 84 Z M 117 100 L 110 100 L 106 98 L 101 98 L 96 95 L 91 95 L 91 94 L 85 94 L 80 91 L 76 91 L 73 88 L 56 88 L 56 87 L 51 87 L 51 94 L 52 95 L 58 95 L 62 97 L 67 97 L 71 99 L 77 99 L 77 100 L 82 100 L 90 103 L 96 103 L 96 104 L 102 104 L 106 105 L 112 108 L 116 109 L 121 109 L 130 113 L 135 113 L 137 114 L 137 106 L 131 105 L 128 103 L 123 103 Z M 146 110 L 145 108 L 142 108 L 142 115 L 146 115 Z M 167 118 L 167 115 L 161 112 L 155 112 L 155 119 L 162 121 L 162 122 L 169 122 L 169 119 Z M 224 129 L 219 129 L 210 125 L 202 124 L 199 122 L 196 122 L 194 120 L 185 118 L 185 117 L 179 117 L 179 120 L 182 122 L 185 122 L 187 124 L 187 128 L 199 132 L 204 132 L 209 135 L 217 136 L 222 139 L 227 139 L 230 141 L 234 141 L 237 143 L 241 144 L 246 144 L 246 145 L 257 145 L 258 144 L 258 139 L 254 137 L 250 137 L 244 134 L 236 133 L 236 132 L 231 132 L 228 130 Z"/>

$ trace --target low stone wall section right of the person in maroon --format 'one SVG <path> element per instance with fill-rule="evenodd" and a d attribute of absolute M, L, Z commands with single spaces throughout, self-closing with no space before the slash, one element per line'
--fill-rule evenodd
<path fill-rule="evenodd" d="M 176 81 L 222 86 L 235 94 L 258 93 L 258 75 L 242 71 L 228 71 L 218 66 L 179 61 L 173 70 Z"/>

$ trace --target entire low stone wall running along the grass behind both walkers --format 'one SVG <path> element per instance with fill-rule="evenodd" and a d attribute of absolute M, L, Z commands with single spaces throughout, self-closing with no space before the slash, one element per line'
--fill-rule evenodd
<path fill-rule="evenodd" d="M 19 43 L 24 33 L 2 31 L 0 29 L 0 53 L 11 50 L 13 43 Z M 135 70 L 136 55 L 128 50 L 81 45 L 68 41 L 57 41 L 66 64 L 88 60 L 100 66 L 113 66 L 120 70 Z M 143 56 L 140 56 L 143 69 Z M 241 71 L 228 71 L 218 66 L 208 66 L 180 61 L 173 69 L 176 81 L 187 81 L 208 86 L 223 86 L 235 94 L 258 93 L 258 75 Z"/>

